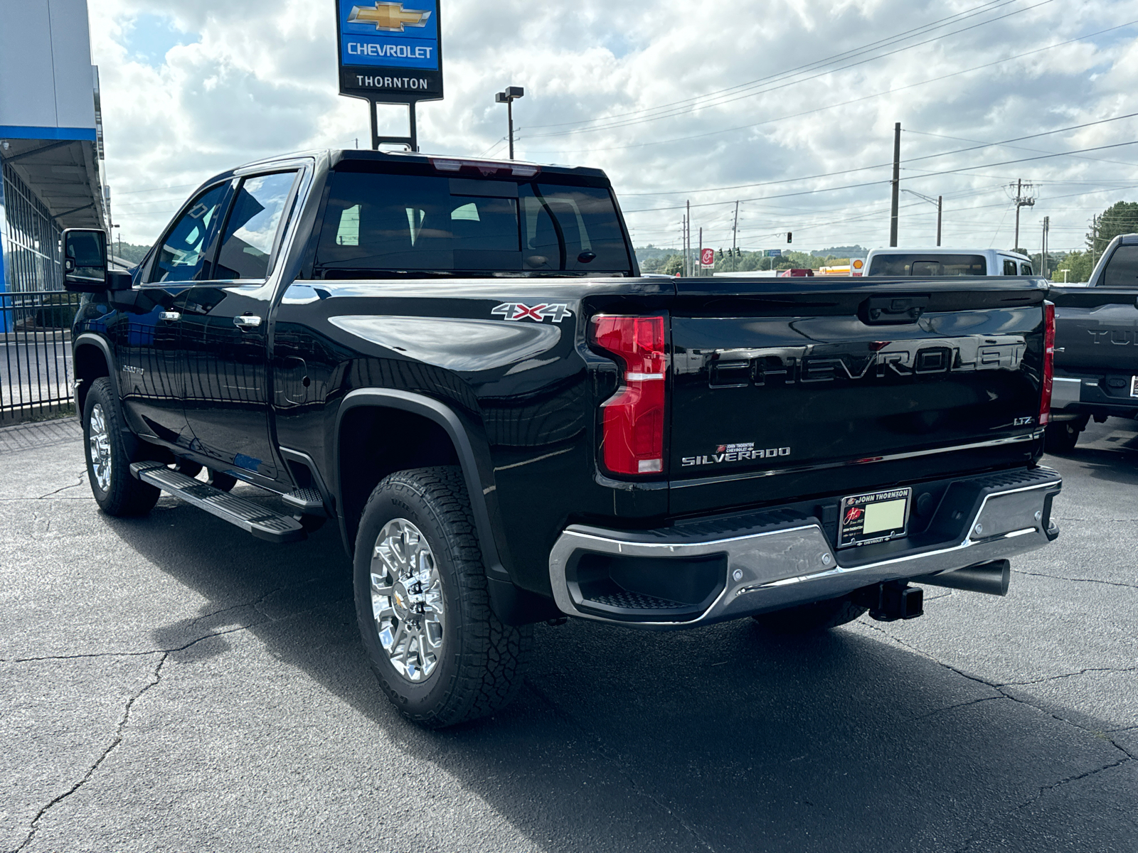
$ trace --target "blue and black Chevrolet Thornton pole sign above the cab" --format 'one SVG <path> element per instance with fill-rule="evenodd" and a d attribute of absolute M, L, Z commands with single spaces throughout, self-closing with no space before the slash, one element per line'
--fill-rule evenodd
<path fill-rule="evenodd" d="M 372 147 L 404 138 L 376 135 L 376 103 L 407 103 L 415 148 L 415 103 L 443 98 L 439 0 L 336 0 L 340 94 L 371 101 Z"/>

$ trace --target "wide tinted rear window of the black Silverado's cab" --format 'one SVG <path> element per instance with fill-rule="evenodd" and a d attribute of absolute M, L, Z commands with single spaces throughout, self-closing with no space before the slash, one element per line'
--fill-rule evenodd
<path fill-rule="evenodd" d="M 372 274 L 627 275 L 608 189 L 335 173 L 318 278 Z"/>

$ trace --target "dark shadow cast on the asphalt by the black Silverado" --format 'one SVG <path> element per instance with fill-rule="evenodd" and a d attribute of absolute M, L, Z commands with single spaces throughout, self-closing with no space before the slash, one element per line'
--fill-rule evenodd
<path fill-rule="evenodd" d="M 970 848 L 1007 850 L 1040 828 L 1053 848 L 1069 836 L 1095 848 L 1054 808 L 1065 795 L 1056 782 L 1085 776 L 1070 787 L 1089 787 L 1095 809 L 1113 797 L 1113 813 L 1132 811 L 1122 802 L 1132 782 L 1100 795 L 1102 773 L 1091 775 L 1125 756 L 1056 719 L 1062 709 L 1045 713 L 850 629 L 781 640 L 750 620 L 674 633 L 541 626 L 509 709 L 422 731 L 368 669 L 331 525 L 266 546 L 168 500 L 149 519 L 107 523 L 208 599 L 196 619 L 155 631 L 165 648 L 185 646 L 175 660 L 221 654 L 224 636 L 193 640 L 247 629 L 538 848 L 958 850 L 974 839 Z M 1132 838 L 1125 820 L 1095 831 Z"/>

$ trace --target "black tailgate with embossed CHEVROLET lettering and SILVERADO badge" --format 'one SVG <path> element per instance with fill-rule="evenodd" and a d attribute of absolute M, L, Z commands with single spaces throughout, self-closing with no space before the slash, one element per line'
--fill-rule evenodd
<path fill-rule="evenodd" d="M 671 507 L 698 511 L 1023 464 L 1037 439 L 1034 282 L 679 282 Z M 900 321 L 900 322 L 898 322 Z M 921 472 L 921 473 L 918 473 Z"/>

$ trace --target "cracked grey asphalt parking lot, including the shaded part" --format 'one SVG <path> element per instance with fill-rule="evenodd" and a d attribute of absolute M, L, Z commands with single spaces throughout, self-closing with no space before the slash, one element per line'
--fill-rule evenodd
<path fill-rule="evenodd" d="M 1135 851 L 1138 425 L 1091 424 L 1007 598 L 777 640 L 570 621 L 497 717 L 405 723 L 329 525 L 101 515 L 0 430 L 0 850 Z"/>

